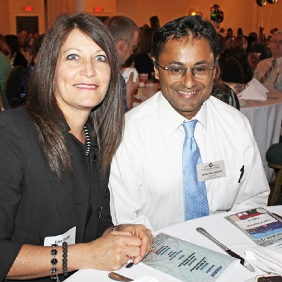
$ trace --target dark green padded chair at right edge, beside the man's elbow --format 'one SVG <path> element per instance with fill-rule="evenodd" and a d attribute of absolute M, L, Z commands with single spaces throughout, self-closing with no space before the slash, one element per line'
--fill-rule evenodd
<path fill-rule="evenodd" d="M 268 161 L 268 166 L 273 168 L 276 172 L 276 180 L 274 188 L 271 191 L 268 199 L 269 206 L 273 206 L 276 198 L 281 192 L 282 183 L 282 143 L 276 143 L 269 147 L 266 152 L 266 160 Z"/>

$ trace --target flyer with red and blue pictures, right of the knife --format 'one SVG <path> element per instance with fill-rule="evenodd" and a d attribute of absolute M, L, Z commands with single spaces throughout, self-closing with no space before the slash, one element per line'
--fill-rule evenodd
<path fill-rule="evenodd" d="M 282 220 L 264 208 L 225 217 L 256 244 L 282 252 Z"/>

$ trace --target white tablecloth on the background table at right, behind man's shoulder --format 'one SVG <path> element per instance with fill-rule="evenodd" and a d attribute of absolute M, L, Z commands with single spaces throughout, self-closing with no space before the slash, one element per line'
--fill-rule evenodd
<path fill-rule="evenodd" d="M 282 94 L 278 92 L 270 93 L 265 102 L 246 101 L 245 105 L 241 105 L 241 112 L 251 124 L 264 171 L 269 181 L 273 169 L 268 167 L 265 154 L 272 144 L 279 142 L 282 121 Z"/>

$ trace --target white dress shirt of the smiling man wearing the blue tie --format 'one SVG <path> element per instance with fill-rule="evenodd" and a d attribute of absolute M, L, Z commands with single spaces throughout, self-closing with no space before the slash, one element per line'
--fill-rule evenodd
<path fill-rule="evenodd" d="M 225 163 L 226 177 L 206 181 L 210 213 L 265 206 L 269 185 L 248 119 L 215 97 L 195 118 L 203 164 Z M 158 230 L 184 221 L 184 120 L 160 91 L 126 114 L 109 182 L 114 224 L 141 223 Z"/>

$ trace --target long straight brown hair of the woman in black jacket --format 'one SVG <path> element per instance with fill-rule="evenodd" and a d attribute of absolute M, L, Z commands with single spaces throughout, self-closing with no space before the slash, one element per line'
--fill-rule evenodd
<path fill-rule="evenodd" d="M 90 115 L 94 128 L 91 134 L 97 140 L 100 150 L 98 163 L 101 175 L 105 174 L 110 165 L 123 133 L 120 65 L 112 36 L 99 19 L 86 13 L 60 16 L 45 35 L 30 81 L 26 106 L 48 165 L 60 181 L 66 172 L 72 174 L 72 166 L 60 129 L 61 111 L 55 101 L 53 82 L 60 48 L 73 29 L 79 29 L 102 48 L 111 68 L 106 97 Z"/>

